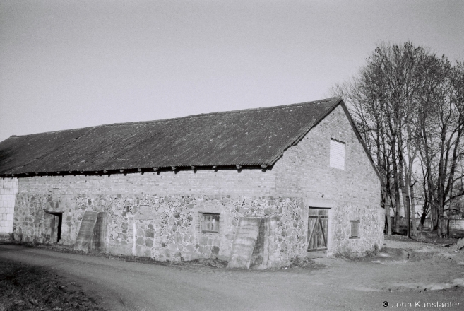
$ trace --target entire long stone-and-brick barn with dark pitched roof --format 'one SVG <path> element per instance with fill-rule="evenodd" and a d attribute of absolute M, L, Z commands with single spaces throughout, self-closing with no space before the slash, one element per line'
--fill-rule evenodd
<path fill-rule="evenodd" d="M 381 247 L 380 185 L 340 98 L 11 136 L 0 233 L 279 267 Z"/>

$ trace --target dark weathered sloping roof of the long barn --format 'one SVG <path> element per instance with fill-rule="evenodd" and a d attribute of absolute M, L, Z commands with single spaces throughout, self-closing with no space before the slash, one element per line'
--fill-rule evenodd
<path fill-rule="evenodd" d="M 0 175 L 213 165 L 272 165 L 341 102 L 215 112 L 11 136 Z"/>

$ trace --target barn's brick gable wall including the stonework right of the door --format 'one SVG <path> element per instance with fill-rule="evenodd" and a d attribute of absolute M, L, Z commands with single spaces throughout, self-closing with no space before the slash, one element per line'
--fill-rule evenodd
<path fill-rule="evenodd" d="M 345 143 L 344 169 L 330 165 L 331 140 Z M 342 167 L 343 165 L 338 165 Z M 291 146 L 277 163 L 276 196 L 302 197 L 307 207 L 328 207 L 328 254 L 362 254 L 383 245 L 384 212 L 379 177 L 338 106 Z M 350 221 L 359 220 L 359 239 L 350 239 Z"/>

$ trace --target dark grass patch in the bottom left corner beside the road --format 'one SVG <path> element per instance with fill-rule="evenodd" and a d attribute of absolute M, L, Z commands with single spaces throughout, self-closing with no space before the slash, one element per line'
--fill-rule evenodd
<path fill-rule="evenodd" d="M 37 266 L 0 259 L 0 311 L 105 310 L 77 283 Z"/>

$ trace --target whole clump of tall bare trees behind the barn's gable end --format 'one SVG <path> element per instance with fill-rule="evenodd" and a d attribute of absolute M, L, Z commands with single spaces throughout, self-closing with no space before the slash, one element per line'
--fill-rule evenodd
<path fill-rule="evenodd" d="M 383 176 L 381 204 L 388 233 L 390 207 L 395 212 L 394 230 L 400 230 L 402 202 L 408 236 L 411 231 L 415 235 L 416 222 L 411 227 L 410 217 L 415 217 L 417 180 L 424 189 L 421 224 L 432 210 L 439 235 L 444 206 L 464 194 L 451 195 L 458 180 L 456 165 L 463 158 L 463 77 L 462 62 L 451 66 L 446 57 L 411 42 L 382 44 L 355 78 L 331 90 L 347 102 Z"/>

